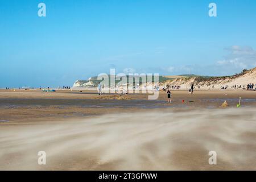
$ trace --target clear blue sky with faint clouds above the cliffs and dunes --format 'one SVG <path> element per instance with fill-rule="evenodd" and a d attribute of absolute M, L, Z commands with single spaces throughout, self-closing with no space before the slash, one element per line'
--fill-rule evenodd
<path fill-rule="evenodd" d="M 232 75 L 256 67 L 255 22 L 254 0 L 0 0 L 0 87 L 72 86 L 110 68 Z"/>

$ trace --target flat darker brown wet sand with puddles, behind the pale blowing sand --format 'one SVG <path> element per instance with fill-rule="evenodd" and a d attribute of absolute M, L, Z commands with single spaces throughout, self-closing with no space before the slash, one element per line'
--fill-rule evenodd
<path fill-rule="evenodd" d="M 195 90 L 193 95 L 187 90 L 173 90 L 171 104 L 166 103 L 164 92 L 159 92 L 158 100 L 148 100 L 147 94 L 128 94 L 118 100 L 118 94 L 98 96 L 95 90 L 0 90 L 0 120 L 7 121 L 0 122 L 0 125 L 109 113 L 133 113 L 148 109 L 217 109 L 225 100 L 230 107 L 236 107 L 239 97 L 242 97 L 242 107 L 256 106 L 256 92 L 246 90 Z"/>

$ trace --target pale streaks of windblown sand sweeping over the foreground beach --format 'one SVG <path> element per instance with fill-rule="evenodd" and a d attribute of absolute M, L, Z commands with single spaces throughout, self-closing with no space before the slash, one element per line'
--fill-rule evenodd
<path fill-rule="evenodd" d="M 256 169 L 255 109 L 109 114 L 0 127 L 0 169 Z M 38 165 L 46 151 L 47 165 Z M 209 165 L 216 151 L 217 165 Z"/>

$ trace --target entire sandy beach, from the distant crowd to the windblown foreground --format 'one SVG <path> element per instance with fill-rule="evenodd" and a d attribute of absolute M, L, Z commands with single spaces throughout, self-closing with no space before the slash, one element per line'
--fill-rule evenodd
<path fill-rule="evenodd" d="M 164 92 L 147 100 L 93 90 L 0 90 L 0 169 L 255 170 L 255 101 L 256 92 L 246 90 L 172 90 L 171 104 Z M 47 165 L 40 166 L 42 150 Z M 219 156 L 213 166 L 212 150 Z"/>

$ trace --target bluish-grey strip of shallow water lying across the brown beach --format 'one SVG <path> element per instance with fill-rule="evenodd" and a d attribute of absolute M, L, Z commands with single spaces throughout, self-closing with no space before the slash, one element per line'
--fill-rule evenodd
<path fill-rule="evenodd" d="M 157 109 L 157 108 L 187 108 L 189 106 L 202 106 L 216 108 L 224 101 L 227 101 L 230 106 L 236 107 L 239 98 L 213 98 L 213 99 L 190 99 L 185 100 L 174 99 L 172 104 L 167 104 L 166 100 L 69 100 L 69 99 L 1 99 L 0 109 L 18 109 L 22 107 L 47 107 L 55 106 L 59 109 L 69 106 L 88 107 L 88 108 L 142 108 L 142 109 Z M 244 98 L 241 100 L 242 106 L 255 105 L 255 98 Z"/>

